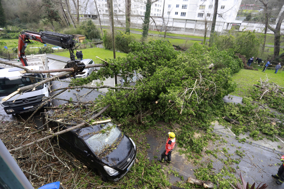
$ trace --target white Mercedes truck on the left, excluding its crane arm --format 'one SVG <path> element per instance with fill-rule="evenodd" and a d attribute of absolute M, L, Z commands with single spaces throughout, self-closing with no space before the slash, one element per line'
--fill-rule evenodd
<path fill-rule="evenodd" d="M 22 65 L 21 61 L 9 61 L 16 65 Z M 47 70 L 48 60 L 45 54 L 26 56 L 30 70 Z M 2 99 L 15 92 L 18 88 L 40 82 L 42 78 L 47 78 L 47 74 L 41 73 L 20 73 L 23 69 L 0 64 L 0 105 L 4 107 L 7 114 L 19 114 L 22 112 L 34 111 L 41 103 L 43 107 L 50 106 L 50 101 L 44 101 L 49 97 L 50 84 L 46 83 L 37 86 L 35 90 L 28 90 L 19 95 L 2 102 Z"/>

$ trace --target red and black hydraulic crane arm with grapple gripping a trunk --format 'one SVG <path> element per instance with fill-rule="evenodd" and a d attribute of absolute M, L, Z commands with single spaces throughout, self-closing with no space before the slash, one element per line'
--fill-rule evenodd
<path fill-rule="evenodd" d="M 51 31 L 27 31 L 24 30 L 19 35 L 18 41 L 18 57 L 22 62 L 23 66 L 27 66 L 27 60 L 25 56 L 25 50 L 28 43 L 31 43 L 30 40 L 38 41 L 40 43 L 48 43 L 56 46 L 60 46 L 63 49 L 68 49 L 70 53 L 70 61 L 67 62 L 65 68 L 74 68 L 74 72 L 72 74 L 76 75 L 76 73 L 80 73 L 85 68 L 85 64 L 77 61 L 75 59 L 74 49 L 78 48 L 77 41 L 74 40 L 74 35 L 67 35 L 62 33 L 55 33 Z M 77 46 L 76 46 L 77 45 Z"/>

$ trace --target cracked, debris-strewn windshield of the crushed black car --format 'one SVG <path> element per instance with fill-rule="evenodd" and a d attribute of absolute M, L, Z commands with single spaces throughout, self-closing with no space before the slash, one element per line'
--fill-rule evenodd
<path fill-rule="evenodd" d="M 120 130 L 112 123 L 106 123 L 100 131 L 96 132 L 88 139 L 85 139 L 85 142 L 97 156 L 103 157 L 106 156 L 108 152 L 114 150 L 121 139 L 122 133 Z M 108 150 L 108 152 L 104 153 L 106 150 Z"/>

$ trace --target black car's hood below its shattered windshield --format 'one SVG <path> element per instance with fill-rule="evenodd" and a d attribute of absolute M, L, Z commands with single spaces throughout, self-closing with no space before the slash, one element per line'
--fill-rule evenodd
<path fill-rule="evenodd" d="M 108 166 L 114 166 L 125 160 L 131 153 L 133 144 L 126 135 L 123 136 L 123 139 L 110 154 L 102 158 L 102 162 L 106 163 Z"/>

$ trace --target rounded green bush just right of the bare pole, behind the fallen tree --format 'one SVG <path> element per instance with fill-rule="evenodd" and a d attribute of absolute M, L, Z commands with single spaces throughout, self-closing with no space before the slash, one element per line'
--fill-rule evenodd
<path fill-rule="evenodd" d="M 115 48 L 120 52 L 129 53 L 131 49 L 128 45 L 132 41 L 135 41 L 134 35 L 119 31 L 115 36 Z"/>

